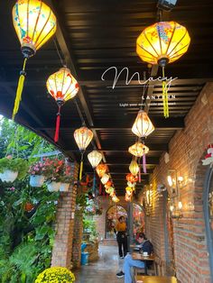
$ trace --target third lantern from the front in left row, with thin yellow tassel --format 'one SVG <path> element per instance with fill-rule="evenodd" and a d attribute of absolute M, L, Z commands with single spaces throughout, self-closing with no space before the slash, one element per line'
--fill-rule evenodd
<path fill-rule="evenodd" d="M 79 180 L 81 180 L 83 172 L 83 154 L 84 151 L 87 149 L 89 142 L 92 141 L 92 138 L 93 132 L 89 130 L 86 126 L 82 126 L 74 132 L 74 139 L 78 144 L 79 151 L 81 151 Z"/>

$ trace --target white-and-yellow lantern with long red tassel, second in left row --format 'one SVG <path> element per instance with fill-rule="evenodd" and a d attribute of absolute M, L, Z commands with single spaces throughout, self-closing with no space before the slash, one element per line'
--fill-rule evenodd
<path fill-rule="evenodd" d="M 60 131 L 60 107 L 64 105 L 66 101 L 77 95 L 79 84 L 77 80 L 72 77 L 69 68 L 60 68 L 58 72 L 52 74 L 48 78 L 46 86 L 49 94 L 55 99 L 59 107 L 54 136 L 54 142 L 58 142 Z"/>

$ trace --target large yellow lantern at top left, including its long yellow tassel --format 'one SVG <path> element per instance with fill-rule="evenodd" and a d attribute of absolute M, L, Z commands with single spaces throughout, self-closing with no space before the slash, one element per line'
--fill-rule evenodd
<path fill-rule="evenodd" d="M 56 17 L 42 0 L 17 0 L 12 14 L 14 30 L 21 43 L 24 58 L 14 101 L 12 115 L 14 120 L 22 99 L 26 60 L 32 57 L 36 50 L 39 50 L 56 32 Z"/>

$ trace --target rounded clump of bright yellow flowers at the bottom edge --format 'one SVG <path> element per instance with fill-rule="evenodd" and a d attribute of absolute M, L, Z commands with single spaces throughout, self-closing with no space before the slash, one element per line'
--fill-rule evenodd
<path fill-rule="evenodd" d="M 52 267 L 42 271 L 35 280 L 35 283 L 48 282 L 73 283 L 75 282 L 75 276 L 69 269 Z"/>

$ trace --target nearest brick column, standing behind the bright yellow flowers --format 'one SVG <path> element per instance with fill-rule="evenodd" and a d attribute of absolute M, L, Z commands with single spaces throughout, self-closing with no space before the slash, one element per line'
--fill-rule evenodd
<path fill-rule="evenodd" d="M 72 164 L 73 178 L 78 178 L 79 166 Z M 56 215 L 56 235 L 54 239 L 51 266 L 61 266 L 70 269 L 72 241 L 74 231 L 74 216 L 77 187 L 70 185 L 69 192 L 60 193 Z"/>

